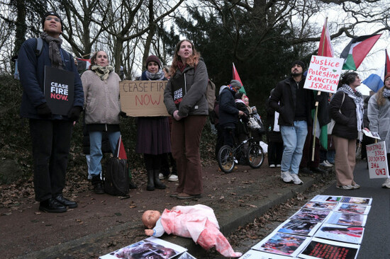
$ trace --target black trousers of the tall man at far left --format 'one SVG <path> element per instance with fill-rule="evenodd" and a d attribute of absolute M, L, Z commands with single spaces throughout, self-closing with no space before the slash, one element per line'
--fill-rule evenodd
<path fill-rule="evenodd" d="M 35 200 L 62 194 L 73 123 L 67 120 L 30 119 L 33 143 Z"/>

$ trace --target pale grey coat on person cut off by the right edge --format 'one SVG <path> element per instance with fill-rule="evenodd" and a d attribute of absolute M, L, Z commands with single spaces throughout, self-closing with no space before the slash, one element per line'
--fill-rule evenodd
<path fill-rule="evenodd" d="M 368 101 L 369 130 L 378 132 L 386 143 L 386 152 L 390 153 L 390 100 L 386 98 L 384 105 L 379 106 L 377 98 L 378 93 L 375 93 Z"/>

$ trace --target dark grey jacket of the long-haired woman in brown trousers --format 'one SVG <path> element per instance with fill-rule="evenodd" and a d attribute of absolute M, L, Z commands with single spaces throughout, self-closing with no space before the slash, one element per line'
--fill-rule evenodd
<path fill-rule="evenodd" d="M 179 108 L 174 104 L 172 96 L 171 82 L 185 74 L 186 93 Z M 186 66 L 184 71 L 177 69 L 174 76 L 169 79 L 164 91 L 164 103 L 170 115 L 173 115 L 175 110 L 179 110 L 180 117 L 188 115 L 208 115 L 208 103 L 206 99 L 206 88 L 208 83 L 208 74 L 206 64 L 202 60 L 196 67 Z"/>

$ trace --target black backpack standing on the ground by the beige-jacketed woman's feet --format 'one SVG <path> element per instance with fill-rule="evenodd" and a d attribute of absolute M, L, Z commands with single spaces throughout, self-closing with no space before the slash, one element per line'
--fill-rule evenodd
<path fill-rule="evenodd" d="M 126 159 L 112 157 L 104 163 L 104 192 L 115 196 L 128 196 L 130 179 Z"/>

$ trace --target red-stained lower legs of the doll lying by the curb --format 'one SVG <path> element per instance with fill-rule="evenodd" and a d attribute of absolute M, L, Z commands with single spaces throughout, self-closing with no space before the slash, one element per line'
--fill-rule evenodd
<path fill-rule="evenodd" d="M 199 246 L 206 250 L 214 246 L 216 251 L 225 257 L 240 257 L 243 255 L 242 253 L 233 251 L 229 241 L 211 221 L 206 221 L 204 231 L 201 232 L 196 243 L 199 243 Z"/>

